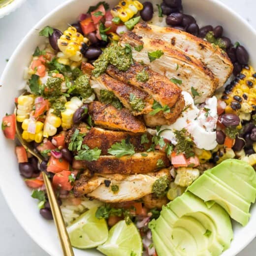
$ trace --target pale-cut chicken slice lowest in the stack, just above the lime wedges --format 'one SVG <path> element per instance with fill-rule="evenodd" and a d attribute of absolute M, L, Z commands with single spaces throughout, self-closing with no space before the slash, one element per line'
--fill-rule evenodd
<path fill-rule="evenodd" d="M 169 170 L 163 169 L 158 172 L 133 175 L 101 175 L 95 174 L 92 178 L 81 175 L 75 182 L 74 194 L 96 198 L 103 202 L 126 202 L 139 199 L 152 193 L 152 187 L 156 180 L 167 176 L 169 179 Z M 118 191 L 113 192 L 112 185 L 118 186 Z"/>

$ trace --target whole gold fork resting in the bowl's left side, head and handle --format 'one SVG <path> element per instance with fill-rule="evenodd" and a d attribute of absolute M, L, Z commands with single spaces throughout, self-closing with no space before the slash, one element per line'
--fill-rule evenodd
<path fill-rule="evenodd" d="M 16 108 L 14 110 L 14 113 L 16 115 Z M 22 134 L 21 124 L 16 122 L 16 136 L 17 136 L 18 140 L 20 141 L 21 145 L 28 152 L 30 152 L 32 156 L 36 157 L 39 163 L 41 163 L 43 160 L 42 156 L 40 154 L 38 154 L 37 152 L 35 152 L 33 150 L 32 146 L 28 142 L 23 140 L 21 134 Z M 69 240 L 69 236 L 67 234 L 66 227 L 64 224 L 61 209 L 58 205 L 51 182 L 45 172 L 42 171 L 42 174 L 43 174 L 43 180 L 44 180 L 46 192 L 48 195 L 49 203 L 50 203 L 52 214 L 53 214 L 53 219 L 54 219 L 55 226 L 58 231 L 59 239 L 61 242 L 63 255 L 64 256 L 74 256 L 74 252 L 73 252 L 73 249 L 72 249 L 72 246 L 71 246 L 71 243 Z"/>

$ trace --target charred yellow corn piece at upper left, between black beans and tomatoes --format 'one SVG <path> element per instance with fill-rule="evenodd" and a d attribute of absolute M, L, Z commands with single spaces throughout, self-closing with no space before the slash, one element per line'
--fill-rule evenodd
<path fill-rule="evenodd" d="M 58 39 L 59 49 L 63 52 L 64 56 L 63 58 L 58 58 L 57 61 L 65 65 L 69 64 L 69 60 L 80 62 L 82 60 L 80 49 L 83 42 L 83 35 L 78 33 L 76 28 L 68 27 Z"/>

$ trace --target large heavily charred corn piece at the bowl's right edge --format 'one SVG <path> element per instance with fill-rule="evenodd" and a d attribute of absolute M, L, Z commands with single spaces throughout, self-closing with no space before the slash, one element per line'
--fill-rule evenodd
<path fill-rule="evenodd" d="M 256 108 L 256 71 L 252 66 L 245 66 L 226 86 L 222 99 L 226 113 L 251 113 Z"/>

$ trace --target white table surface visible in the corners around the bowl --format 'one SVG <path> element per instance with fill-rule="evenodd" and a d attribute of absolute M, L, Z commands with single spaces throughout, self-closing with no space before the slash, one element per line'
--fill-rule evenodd
<path fill-rule="evenodd" d="M 85 0 L 86 1 L 86 0 Z M 203 0 L 202 0 L 203 1 Z M 222 0 L 256 28 L 256 0 Z M 19 9 L 0 19 L 0 74 L 13 50 L 45 14 L 63 0 L 27 0 Z M 21 209 L 22 210 L 22 209 Z M 48 256 L 25 233 L 0 192 L 0 255 Z M 256 239 L 238 256 L 255 256 Z"/>

